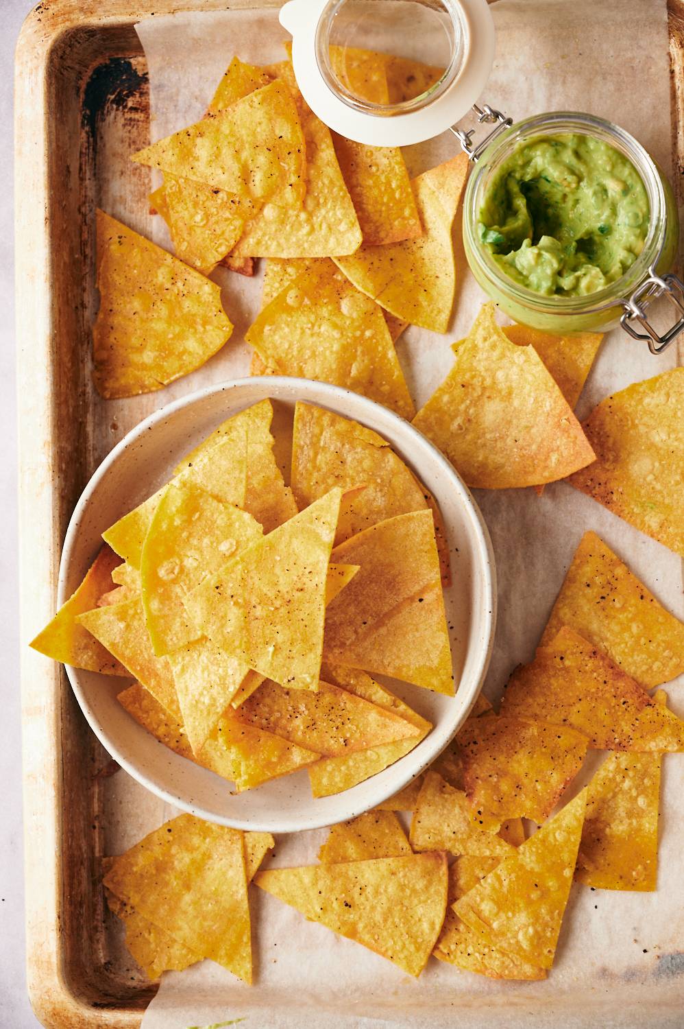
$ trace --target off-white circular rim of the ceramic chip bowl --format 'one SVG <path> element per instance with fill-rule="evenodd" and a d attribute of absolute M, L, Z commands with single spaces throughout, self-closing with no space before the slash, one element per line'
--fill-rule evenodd
<path fill-rule="evenodd" d="M 372 428 L 373 431 L 382 434 L 382 430 L 374 428 L 373 413 L 380 412 L 383 419 L 389 419 L 390 423 L 395 423 L 397 427 L 400 428 L 402 432 L 408 432 L 409 437 L 412 436 L 415 442 L 420 447 L 426 448 L 428 451 L 432 452 L 433 459 L 441 467 L 442 472 L 446 475 L 447 480 L 451 481 L 453 486 L 456 487 L 457 492 L 460 494 L 461 502 L 469 514 L 471 528 L 474 532 L 476 545 L 472 547 L 472 553 L 474 555 L 473 565 L 477 574 L 482 576 L 481 589 L 482 589 L 482 611 L 480 614 L 482 627 L 481 627 L 481 650 L 475 663 L 475 669 L 471 673 L 470 680 L 468 683 L 468 688 L 471 691 L 469 702 L 466 707 L 463 708 L 461 717 L 456 720 L 453 732 L 449 734 L 446 741 L 440 746 L 439 750 L 430 752 L 428 750 L 427 756 L 421 758 L 419 766 L 416 767 L 415 764 L 409 772 L 397 775 L 396 779 L 390 781 L 388 787 L 379 791 L 376 796 L 373 796 L 372 804 L 362 804 L 362 805 L 350 805 L 348 810 L 335 821 L 331 821 L 328 816 L 321 816 L 315 814 L 315 807 L 312 809 L 312 813 L 307 816 L 297 819 L 296 828 L 293 828 L 289 821 L 279 823 L 277 819 L 266 821 L 257 820 L 245 820 L 240 817 L 222 816 L 215 812 L 206 811 L 201 804 L 194 803 L 192 801 L 185 800 L 179 796 L 178 793 L 170 790 L 168 787 L 164 786 L 155 778 L 151 777 L 148 773 L 141 771 L 134 761 L 130 760 L 124 754 L 121 753 L 117 744 L 110 738 L 107 730 L 101 723 L 100 719 L 96 716 L 95 712 L 88 704 L 85 691 L 79 684 L 79 670 L 71 665 L 65 665 L 65 670 L 73 689 L 74 696 L 78 702 L 78 705 L 91 728 L 95 733 L 96 737 L 103 745 L 103 747 L 108 751 L 108 753 L 120 765 L 129 775 L 132 776 L 138 783 L 143 787 L 148 789 L 150 792 L 158 796 L 160 800 L 171 804 L 175 808 L 179 808 L 183 812 L 195 815 L 196 817 L 205 820 L 214 822 L 217 824 L 222 824 L 230 826 L 233 828 L 250 830 L 250 831 L 267 831 L 267 832 L 299 832 L 310 829 L 323 828 L 331 824 L 336 824 L 337 822 L 347 821 L 351 818 L 355 818 L 366 811 L 371 810 L 379 804 L 383 804 L 390 796 L 393 796 L 396 792 L 407 786 L 415 778 L 417 778 L 425 769 L 430 765 L 442 750 L 448 746 L 451 741 L 454 739 L 459 729 L 463 725 L 464 721 L 470 714 L 470 711 L 475 704 L 475 701 L 479 697 L 481 691 L 482 683 L 487 675 L 490 661 L 492 658 L 492 651 L 494 648 L 494 636 L 497 623 L 497 589 L 496 589 L 496 563 L 494 557 L 494 549 L 492 545 L 492 540 L 490 533 L 482 517 L 479 507 L 474 500 L 470 490 L 463 482 L 461 475 L 456 470 L 451 461 L 442 454 L 437 447 L 434 446 L 422 432 L 420 432 L 410 422 L 406 419 L 401 418 L 399 415 L 390 411 L 388 407 L 377 403 L 368 397 L 362 396 L 359 393 L 355 393 L 353 390 L 346 389 L 341 386 L 333 386 L 328 383 L 320 383 L 309 379 L 299 379 L 294 377 L 286 376 L 249 376 L 240 379 L 229 379 L 224 380 L 219 383 L 214 383 L 210 386 L 203 387 L 202 389 L 195 390 L 188 393 L 182 397 L 172 400 L 168 404 L 157 409 L 157 411 L 152 412 L 147 418 L 143 419 L 137 425 L 135 425 L 124 436 L 119 440 L 118 443 L 107 454 L 107 456 L 98 465 L 96 470 L 93 472 L 91 478 L 88 480 L 86 486 L 84 487 L 76 505 L 72 511 L 71 518 L 69 520 L 69 525 L 67 532 L 65 534 L 64 543 L 62 547 L 62 556 L 60 559 L 60 572 L 58 578 L 58 592 L 57 592 L 57 602 L 58 609 L 69 599 L 69 594 L 67 594 L 67 577 L 70 570 L 72 558 L 74 556 L 74 551 L 76 548 L 76 543 L 78 539 L 78 533 L 80 524 L 85 516 L 88 508 L 92 496 L 97 490 L 100 483 L 108 474 L 110 468 L 116 464 L 118 459 L 122 454 L 125 453 L 132 446 L 134 446 L 137 440 L 146 433 L 152 431 L 154 426 L 176 415 L 179 411 L 185 407 L 190 407 L 194 404 L 202 403 L 204 400 L 211 396 L 219 393 L 230 393 L 233 390 L 238 390 L 241 387 L 248 385 L 254 389 L 262 387 L 263 396 L 261 399 L 286 399 L 292 402 L 297 402 L 302 400 L 303 402 L 310 403 L 323 403 L 334 411 L 336 414 L 340 415 L 343 418 L 349 418 L 352 421 L 356 421 L 357 418 L 352 418 L 350 415 L 344 414 L 339 410 L 340 401 L 350 395 L 354 398 L 354 402 L 357 403 L 362 411 L 368 412 L 368 421 L 362 422 L 366 427 Z M 302 396 L 293 395 L 298 394 L 301 391 Z M 305 394 L 316 392 L 318 398 L 307 396 Z M 280 396 L 279 396 L 280 394 Z M 258 399 L 251 400 L 246 406 L 251 406 L 253 403 L 259 402 Z M 230 417 L 230 415 L 226 415 Z M 220 423 L 219 423 L 220 424 Z M 390 443 L 390 446 L 393 446 Z M 404 449 L 405 453 L 405 449 Z M 408 455 L 406 455 L 408 457 Z M 403 457 L 402 457 L 403 460 Z M 409 458 L 410 460 L 410 458 Z M 458 690 L 457 690 L 458 693 Z M 152 738 L 153 739 L 153 738 Z M 429 735 L 426 739 L 429 739 Z M 403 757 L 399 758 L 394 762 L 394 768 L 399 772 L 401 765 L 406 758 L 410 757 L 412 751 L 409 751 Z M 370 779 L 374 778 L 373 776 Z M 358 785 L 358 784 L 357 784 Z M 351 790 L 343 790 L 340 793 L 333 794 L 335 796 L 344 796 L 346 792 L 351 792 Z M 315 806 L 316 797 L 312 796 L 313 805 Z M 322 800 L 326 800 L 323 797 Z"/>

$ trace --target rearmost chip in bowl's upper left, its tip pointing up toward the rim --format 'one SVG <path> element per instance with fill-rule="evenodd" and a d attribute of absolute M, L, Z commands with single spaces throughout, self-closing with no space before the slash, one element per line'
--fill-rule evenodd
<path fill-rule="evenodd" d="M 244 503 L 232 502 L 239 507 L 244 506 L 263 526 L 264 533 L 273 532 L 279 525 L 297 513 L 292 492 L 285 486 L 274 457 L 275 439 L 271 434 L 273 417 L 274 409 L 271 400 L 260 400 L 252 404 L 251 407 L 222 422 L 176 467 L 177 473 L 184 468 L 190 468 L 197 460 L 207 457 L 225 436 L 232 437 L 236 432 L 246 432 L 247 493 Z"/>

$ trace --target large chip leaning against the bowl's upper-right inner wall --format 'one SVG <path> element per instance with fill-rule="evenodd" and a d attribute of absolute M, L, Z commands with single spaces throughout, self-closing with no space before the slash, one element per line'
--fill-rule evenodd
<path fill-rule="evenodd" d="M 335 545 L 384 519 L 430 507 L 436 513 L 435 535 L 442 579 L 448 580 L 448 544 L 439 508 L 387 440 L 372 429 L 323 407 L 297 401 L 291 484 L 300 507 L 333 486 L 351 490 L 363 484 L 360 493 L 343 500 Z"/>

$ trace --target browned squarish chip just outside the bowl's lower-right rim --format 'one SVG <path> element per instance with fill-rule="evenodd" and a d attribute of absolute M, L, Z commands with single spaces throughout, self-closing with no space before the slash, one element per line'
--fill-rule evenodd
<path fill-rule="evenodd" d="M 466 795 L 501 821 L 541 824 L 582 767 L 587 744 L 564 725 L 494 713 L 473 718 L 459 733 Z"/>

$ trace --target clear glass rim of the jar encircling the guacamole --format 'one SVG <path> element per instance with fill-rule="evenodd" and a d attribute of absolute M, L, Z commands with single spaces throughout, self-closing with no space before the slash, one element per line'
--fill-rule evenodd
<path fill-rule="evenodd" d="M 625 156 L 640 176 L 649 203 L 649 225 L 642 252 L 634 263 L 603 289 L 579 296 L 547 296 L 511 279 L 494 260 L 476 234 L 481 193 L 492 174 L 512 150 L 536 135 L 574 133 L 608 137 L 606 142 Z M 664 246 L 665 193 L 657 166 L 641 143 L 620 126 L 581 111 L 548 111 L 516 121 L 482 153 L 470 176 L 463 208 L 463 232 L 478 271 L 508 298 L 544 314 L 591 314 L 615 307 L 631 296 L 658 262 Z"/>

